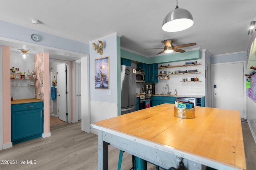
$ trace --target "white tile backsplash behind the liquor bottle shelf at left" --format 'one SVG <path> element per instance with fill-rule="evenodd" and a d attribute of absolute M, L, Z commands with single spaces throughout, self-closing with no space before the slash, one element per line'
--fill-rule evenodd
<path fill-rule="evenodd" d="M 19 55 L 20 53 L 10 53 L 10 66 L 19 68 L 22 72 L 28 72 L 28 70 L 32 72 L 34 70 L 34 55 L 30 55 L 27 61 L 21 60 Z M 33 80 L 11 80 L 11 96 L 14 100 L 35 98 L 35 86 L 31 81 Z M 28 84 L 29 86 L 27 86 Z"/>

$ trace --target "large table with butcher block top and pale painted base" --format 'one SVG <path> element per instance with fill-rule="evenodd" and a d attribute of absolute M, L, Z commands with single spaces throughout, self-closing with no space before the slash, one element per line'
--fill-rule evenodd
<path fill-rule="evenodd" d="M 108 145 L 163 168 L 246 169 L 240 113 L 195 107 L 195 118 L 174 117 L 162 104 L 91 124 L 98 129 L 98 169 L 108 169 Z M 178 157 L 177 157 L 178 156 Z"/>

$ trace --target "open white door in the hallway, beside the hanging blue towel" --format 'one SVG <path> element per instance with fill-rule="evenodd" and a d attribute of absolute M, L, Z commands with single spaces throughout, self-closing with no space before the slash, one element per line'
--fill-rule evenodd
<path fill-rule="evenodd" d="M 58 117 L 62 121 L 67 121 L 66 108 L 66 64 L 57 65 L 57 111 Z"/>

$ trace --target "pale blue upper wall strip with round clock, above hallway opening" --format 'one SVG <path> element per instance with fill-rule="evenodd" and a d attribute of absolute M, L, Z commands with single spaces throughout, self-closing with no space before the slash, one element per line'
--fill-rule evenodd
<path fill-rule="evenodd" d="M 40 35 L 39 42 L 35 42 L 31 39 L 31 35 L 33 33 Z M 0 21 L 0 37 L 16 39 L 19 41 L 54 47 L 58 49 L 64 49 L 67 51 L 74 51 L 77 53 L 90 53 L 89 44 L 44 33 L 42 31 L 36 31 L 34 29 L 22 27 L 5 21 Z"/>

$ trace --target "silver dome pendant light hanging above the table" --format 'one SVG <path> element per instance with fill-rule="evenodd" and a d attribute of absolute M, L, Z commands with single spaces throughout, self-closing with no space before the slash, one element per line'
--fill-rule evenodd
<path fill-rule="evenodd" d="M 194 23 L 193 17 L 188 10 L 178 8 L 177 6 L 174 10 L 169 12 L 164 18 L 162 29 L 167 32 L 177 32 L 184 29 L 188 29 Z"/>

